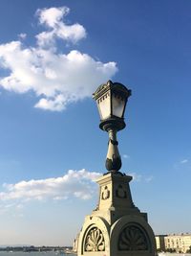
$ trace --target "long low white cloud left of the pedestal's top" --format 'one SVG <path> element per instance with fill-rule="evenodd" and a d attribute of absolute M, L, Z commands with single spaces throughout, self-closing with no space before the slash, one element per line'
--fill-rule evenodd
<path fill-rule="evenodd" d="M 46 179 L 32 179 L 15 184 L 3 184 L 4 191 L 0 192 L 0 201 L 92 198 L 96 191 L 94 180 L 101 174 L 86 170 L 70 170 L 66 175 Z M 95 185 L 94 185 L 95 184 Z M 7 204 L 11 205 L 11 204 Z M 22 204 L 19 203 L 19 208 Z"/>

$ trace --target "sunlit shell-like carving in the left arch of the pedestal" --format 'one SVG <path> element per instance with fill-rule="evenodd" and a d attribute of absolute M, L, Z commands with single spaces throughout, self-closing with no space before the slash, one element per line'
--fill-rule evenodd
<path fill-rule="evenodd" d="M 85 251 L 104 251 L 105 240 L 100 229 L 93 227 L 85 239 Z"/>

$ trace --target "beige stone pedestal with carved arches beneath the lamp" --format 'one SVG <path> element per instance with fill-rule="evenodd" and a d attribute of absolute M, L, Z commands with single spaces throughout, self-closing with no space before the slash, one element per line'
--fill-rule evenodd
<path fill-rule="evenodd" d="M 78 240 L 78 256 L 154 256 L 155 236 L 147 214 L 133 203 L 132 176 L 101 176 L 96 210 L 85 218 Z"/>

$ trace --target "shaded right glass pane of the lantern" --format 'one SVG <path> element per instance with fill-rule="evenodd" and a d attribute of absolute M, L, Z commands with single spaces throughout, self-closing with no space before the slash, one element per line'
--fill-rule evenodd
<path fill-rule="evenodd" d="M 121 118 L 123 114 L 123 109 L 125 107 L 125 99 L 117 94 L 112 95 L 112 113 L 113 115 Z"/>

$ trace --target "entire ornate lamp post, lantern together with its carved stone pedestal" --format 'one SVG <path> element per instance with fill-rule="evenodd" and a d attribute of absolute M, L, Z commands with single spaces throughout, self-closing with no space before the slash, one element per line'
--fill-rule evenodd
<path fill-rule="evenodd" d="M 118 172 L 117 131 L 125 128 L 124 111 L 131 90 L 119 82 L 101 84 L 93 95 L 99 128 L 109 134 L 107 174 L 100 176 L 96 209 L 87 215 L 77 240 L 78 256 L 155 256 L 155 236 L 147 214 L 134 204 L 131 175 Z M 91 188 L 90 188 L 91 189 Z"/>

